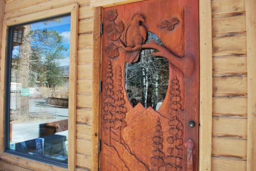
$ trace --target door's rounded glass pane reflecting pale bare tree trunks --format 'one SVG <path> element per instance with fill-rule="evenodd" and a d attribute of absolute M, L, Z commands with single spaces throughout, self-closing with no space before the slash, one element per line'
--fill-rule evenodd
<path fill-rule="evenodd" d="M 146 43 L 154 40 L 163 45 L 159 37 L 148 32 Z M 162 105 L 168 88 L 169 64 L 162 57 L 154 57 L 153 49 L 145 49 L 140 53 L 140 61 L 125 64 L 125 89 L 132 106 L 139 102 L 145 107 L 158 110 Z"/>

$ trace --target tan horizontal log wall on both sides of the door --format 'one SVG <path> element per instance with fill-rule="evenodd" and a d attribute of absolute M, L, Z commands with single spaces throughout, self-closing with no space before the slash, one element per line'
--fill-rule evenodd
<path fill-rule="evenodd" d="M 6 0 L 4 19 L 79 3 L 77 170 L 92 168 L 93 163 L 92 151 L 90 150 L 93 146 L 91 141 L 93 123 L 93 7 L 127 2 L 136 2 L 136 0 L 91 0 L 91 2 L 90 0 Z M 2 9 L 0 6 L 0 23 Z M 242 171 L 246 170 L 247 167 L 245 0 L 212 0 L 211 13 L 213 72 L 211 170 Z M 201 150 L 203 151 L 203 149 Z M 22 167 L 18 165 L 20 164 L 17 162 L 0 160 L 0 170 L 33 170 L 29 167 L 25 168 L 25 164 Z"/>

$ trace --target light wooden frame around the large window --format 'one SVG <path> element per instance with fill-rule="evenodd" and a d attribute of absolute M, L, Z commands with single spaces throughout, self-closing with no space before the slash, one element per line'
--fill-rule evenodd
<path fill-rule="evenodd" d="M 77 40 L 78 40 L 78 4 L 71 4 L 59 8 L 36 12 L 24 16 L 4 20 L 1 51 L 1 75 L 0 75 L 0 160 L 38 171 L 45 170 L 76 170 L 76 80 L 77 80 Z M 8 27 L 44 18 L 70 14 L 70 77 L 69 77 L 69 161 L 68 168 L 52 164 L 42 163 L 24 157 L 19 157 L 5 152 L 5 97 L 6 97 L 6 60 Z"/>

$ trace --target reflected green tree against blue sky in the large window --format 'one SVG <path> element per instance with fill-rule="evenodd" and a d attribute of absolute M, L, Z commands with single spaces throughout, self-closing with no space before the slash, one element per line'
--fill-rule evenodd
<path fill-rule="evenodd" d="M 63 58 L 62 52 L 67 51 L 63 46 L 63 37 L 54 30 L 35 30 L 28 34 L 31 37 L 30 86 L 39 81 L 48 83 L 54 88 L 61 85 L 61 68 L 58 59 Z"/>

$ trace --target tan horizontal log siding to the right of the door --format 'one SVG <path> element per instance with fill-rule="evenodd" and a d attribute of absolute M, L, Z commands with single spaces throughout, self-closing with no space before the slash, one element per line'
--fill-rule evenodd
<path fill-rule="evenodd" d="M 247 55 L 245 0 L 212 0 L 212 171 L 245 171 Z"/>

